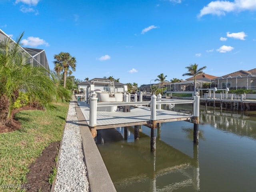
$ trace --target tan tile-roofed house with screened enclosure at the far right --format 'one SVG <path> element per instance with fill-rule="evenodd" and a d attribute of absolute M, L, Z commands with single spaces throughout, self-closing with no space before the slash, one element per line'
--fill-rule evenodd
<path fill-rule="evenodd" d="M 212 87 L 218 89 L 229 88 L 237 89 L 254 89 L 256 90 L 256 68 L 251 70 L 240 70 L 218 78 L 212 79 Z"/>

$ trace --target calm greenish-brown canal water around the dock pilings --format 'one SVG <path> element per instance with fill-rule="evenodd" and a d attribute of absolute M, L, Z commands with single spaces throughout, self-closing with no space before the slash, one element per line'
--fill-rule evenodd
<path fill-rule="evenodd" d="M 99 131 L 97 146 L 117 192 L 255 192 L 256 112 L 200 106 L 199 120 L 198 145 L 192 123 L 161 123 L 156 152 L 146 126 L 138 140 L 134 127 Z"/>

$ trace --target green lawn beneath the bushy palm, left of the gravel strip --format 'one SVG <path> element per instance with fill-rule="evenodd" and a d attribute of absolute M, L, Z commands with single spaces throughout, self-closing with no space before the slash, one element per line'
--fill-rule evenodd
<path fill-rule="evenodd" d="M 41 110 L 16 114 L 22 129 L 0 134 L 0 191 L 24 191 L 13 186 L 26 183 L 28 165 L 50 143 L 61 140 L 67 112 L 68 103 L 59 103 L 49 115 Z"/>

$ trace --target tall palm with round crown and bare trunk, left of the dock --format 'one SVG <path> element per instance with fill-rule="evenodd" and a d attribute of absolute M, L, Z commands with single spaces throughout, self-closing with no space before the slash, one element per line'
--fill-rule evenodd
<path fill-rule="evenodd" d="M 54 70 L 60 74 L 60 72 L 63 72 L 64 75 L 64 83 L 63 86 L 66 88 L 66 76 L 67 74 L 72 74 L 72 70 L 76 70 L 76 58 L 72 57 L 67 52 L 60 52 L 58 55 L 54 55 L 55 61 L 54 63 Z M 72 70 L 71 70 L 71 69 Z"/>

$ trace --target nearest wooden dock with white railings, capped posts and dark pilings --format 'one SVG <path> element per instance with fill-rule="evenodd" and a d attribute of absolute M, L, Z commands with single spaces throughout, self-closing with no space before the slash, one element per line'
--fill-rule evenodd
<path fill-rule="evenodd" d="M 156 150 L 156 128 L 161 122 L 172 121 L 188 121 L 194 124 L 194 142 L 199 140 L 199 104 L 200 97 L 198 94 L 194 96 L 194 100 L 176 100 L 176 101 L 161 101 L 153 94 L 150 101 L 134 101 L 130 102 L 98 102 L 96 94 L 90 97 L 90 105 L 86 102 L 78 102 L 78 106 L 84 115 L 86 123 L 90 128 L 93 138 L 97 136 L 97 130 L 106 128 L 117 128 L 134 126 L 138 133 L 138 126 L 145 125 L 151 128 L 150 148 L 151 151 Z M 193 104 L 193 114 L 174 112 L 171 110 L 162 109 L 162 105 L 166 104 Z M 148 107 L 150 105 L 150 107 Z M 124 111 L 109 110 L 109 106 L 122 106 Z M 132 109 L 129 106 L 133 106 Z M 128 110 L 126 108 L 128 107 Z M 102 109 L 104 111 L 102 111 Z M 106 110 L 106 111 L 105 111 Z M 137 135 L 137 134 L 135 134 Z"/>

